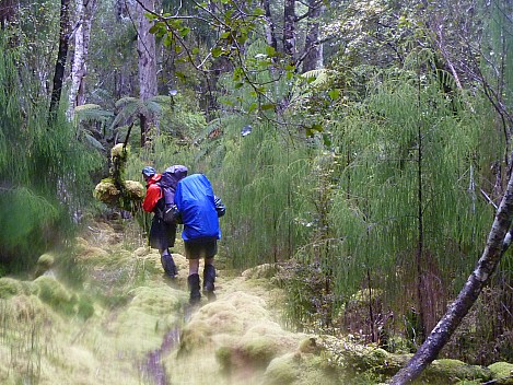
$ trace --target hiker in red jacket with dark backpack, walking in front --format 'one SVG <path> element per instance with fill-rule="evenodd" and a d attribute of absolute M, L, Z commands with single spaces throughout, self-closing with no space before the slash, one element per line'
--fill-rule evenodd
<path fill-rule="evenodd" d="M 177 183 L 187 176 L 187 167 L 174 165 L 158 174 L 153 167 L 145 166 L 142 168 L 142 176 L 147 183 L 142 209 L 154 213 L 149 243 L 151 247 L 159 249 L 165 273 L 170 278 L 175 278 L 178 271 L 170 248 L 175 245 L 176 221 L 167 220 L 166 212 L 173 207 Z"/>

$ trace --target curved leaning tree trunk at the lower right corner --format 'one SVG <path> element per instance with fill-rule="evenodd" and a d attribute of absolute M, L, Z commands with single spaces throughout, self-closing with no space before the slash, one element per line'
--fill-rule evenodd
<path fill-rule="evenodd" d="M 465 315 L 477 301 L 482 289 L 490 281 L 491 275 L 499 265 L 502 255 L 511 244 L 511 222 L 513 217 L 513 174 L 510 176 L 508 188 L 497 210 L 493 224 L 488 235 L 487 245 L 475 270 L 456 300 L 448 306 L 447 312 L 431 331 L 417 353 L 393 378 L 392 385 L 409 384 L 417 378 L 448 341 L 454 330 L 459 326 Z M 509 232 L 510 231 L 510 232 Z"/>

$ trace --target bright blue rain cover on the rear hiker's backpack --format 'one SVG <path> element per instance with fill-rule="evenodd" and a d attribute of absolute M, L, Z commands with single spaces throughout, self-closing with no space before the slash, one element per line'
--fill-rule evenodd
<path fill-rule="evenodd" d="M 175 205 L 184 223 L 184 241 L 221 238 L 212 186 L 203 174 L 193 174 L 178 182 Z"/>

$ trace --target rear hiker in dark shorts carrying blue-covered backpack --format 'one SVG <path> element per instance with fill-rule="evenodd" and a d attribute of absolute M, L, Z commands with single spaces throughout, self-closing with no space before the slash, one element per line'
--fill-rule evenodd
<path fill-rule="evenodd" d="M 180 222 L 184 224 L 182 238 L 185 257 L 189 261 L 187 278 L 190 290 L 189 303 L 200 301 L 199 259 L 205 259 L 203 294 L 214 300 L 215 268 L 213 257 L 218 253 L 218 240 L 221 238 L 219 217 L 225 208 L 221 199 L 214 196 L 210 180 L 203 174 L 193 174 L 178 182 L 175 191 L 175 205 Z"/>

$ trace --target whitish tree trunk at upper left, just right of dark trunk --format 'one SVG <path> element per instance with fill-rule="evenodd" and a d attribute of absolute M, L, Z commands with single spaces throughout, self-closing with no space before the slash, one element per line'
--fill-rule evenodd
<path fill-rule="evenodd" d="M 85 103 L 84 78 L 88 73 L 86 60 L 89 42 L 91 37 L 91 24 L 96 11 L 97 0 L 77 0 L 77 14 L 79 24 L 74 33 L 74 56 L 71 68 L 71 86 L 69 92 L 68 118 L 74 115 L 74 107 Z"/>

